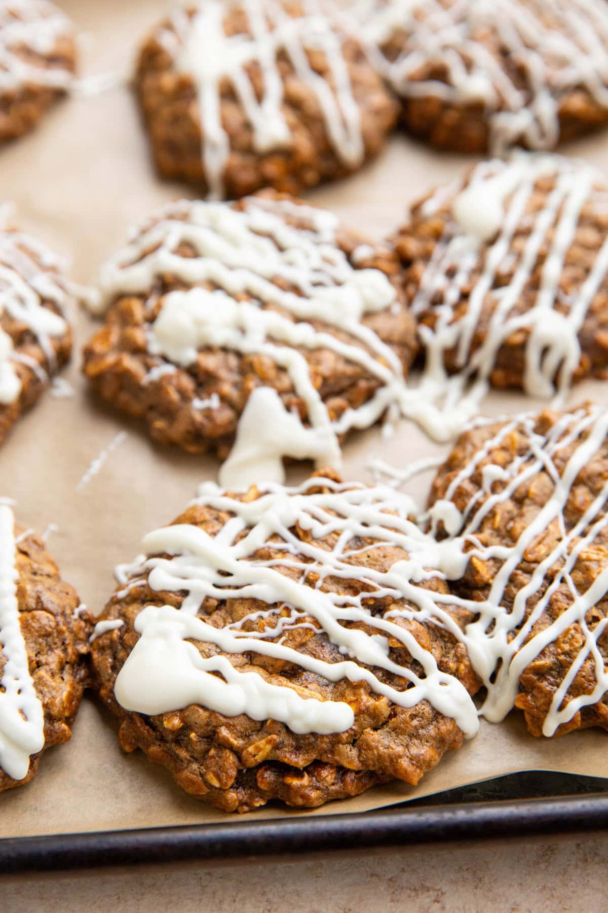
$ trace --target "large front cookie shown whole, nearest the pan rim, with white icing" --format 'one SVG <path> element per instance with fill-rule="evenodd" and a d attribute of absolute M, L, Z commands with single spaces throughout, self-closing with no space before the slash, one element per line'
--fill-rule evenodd
<path fill-rule="evenodd" d="M 418 782 L 477 731 L 479 680 L 426 620 L 436 602 L 460 633 L 473 616 L 450 605 L 448 555 L 411 509 L 330 474 L 202 486 L 99 616 L 94 687 L 123 749 L 228 812 Z"/>

